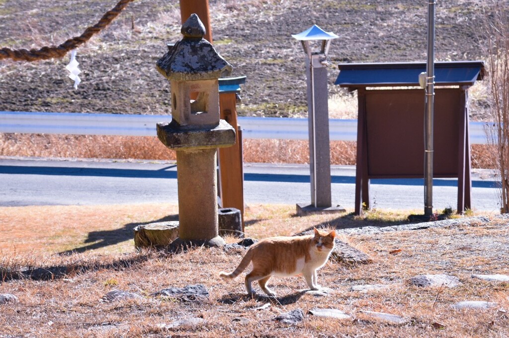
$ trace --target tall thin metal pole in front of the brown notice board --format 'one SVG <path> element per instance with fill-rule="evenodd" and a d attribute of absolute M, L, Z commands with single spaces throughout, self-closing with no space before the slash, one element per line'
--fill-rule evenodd
<path fill-rule="evenodd" d="M 425 113 L 425 206 L 424 214 L 433 214 L 433 115 L 435 99 L 435 0 L 428 0 L 428 62 L 426 65 Z"/>

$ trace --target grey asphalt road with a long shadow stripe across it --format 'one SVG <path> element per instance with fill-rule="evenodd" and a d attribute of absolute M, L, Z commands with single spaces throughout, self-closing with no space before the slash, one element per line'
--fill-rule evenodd
<path fill-rule="evenodd" d="M 355 167 L 333 166 L 332 203 L 354 207 Z M 0 206 L 177 203 L 177 166 L 161 161 L 0 158 Z M 424 208 L 422 179 L 371 181 L 372 207 Z M 249 204 L 310 202 L 309 167 L 244 165 L 244 200 Z M 456 209 L 457 180 L 435 179 L 433 207 Z M 498 212 L 492 171 L 472 173 L 474 211 Z"/>

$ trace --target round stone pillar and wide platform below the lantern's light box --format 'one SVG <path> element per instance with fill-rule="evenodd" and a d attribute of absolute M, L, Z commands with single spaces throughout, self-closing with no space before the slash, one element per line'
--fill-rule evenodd
<path fill-rule="evenodd" d="M 235 130 L 224 120 L 202 128 L 161 122 L 157 136 L 177 153 L 179 237 L 172 247 L 224 245 L 218 232 L 216 149 L 234 145 Z"/>

